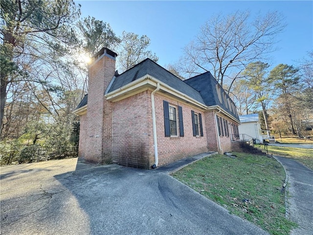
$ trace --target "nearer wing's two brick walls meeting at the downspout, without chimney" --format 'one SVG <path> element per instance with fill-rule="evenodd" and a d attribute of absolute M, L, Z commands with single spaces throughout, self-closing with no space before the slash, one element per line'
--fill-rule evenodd
<path fill-rule="evenodd" d="M 163 100 L 175 107 L 182 106 L 184 137 L 164 136 Z M 155 94 L 158 166 L 180 158 L 206 152 L 204 113 L 161 94 Z M 194 137 L 191 110 L 202 115 L 203 137 Z M 155 162 L 151 91 L 144 91 L 114 102 L 112 119 L 112 155 L 117 164 L 150 168 Z M 179 124 L 178 124 L 179 134 Z M 214 149 L 216 151 L 216 149 Z"/>

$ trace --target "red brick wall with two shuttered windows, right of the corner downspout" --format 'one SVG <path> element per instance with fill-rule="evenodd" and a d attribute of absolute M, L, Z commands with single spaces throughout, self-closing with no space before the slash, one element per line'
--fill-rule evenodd
<path fill-rule="evenodd" d="M 177 108 L 182 107 L 184 137 L 165 137 L 164 134 L 164 113 L 163 100 L 169 102 L 170 105 Z M 158 165 L 168 164 L 180 158 L 192 156 L 198 153 L 207 151 L 206 139 L 206 124 L 204 121 L 204 114 L 198 109 L 189 105 L 181 103 L 172 98 L 168 98 L 161 94 L 155 94 L 156 107 L 156 132 L 157 132 L 157 147 L 158 147 Z M 194 137 L 192 131 L 191 110 L 195 113 L 201 113 L 203 125 L 203 137 Z M 177 119 L 178 120 L 178 119 Z M 179 135 L 179 125 L 178 125 Z"/>

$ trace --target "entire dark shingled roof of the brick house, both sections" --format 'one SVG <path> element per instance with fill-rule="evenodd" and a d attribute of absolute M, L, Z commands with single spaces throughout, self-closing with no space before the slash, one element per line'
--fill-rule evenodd
<path fill-rule="evenodd" d="M 146 74 L 155 77 L 160 82 L 163 82 L 173 89 L 188 95 L 189 97 L 197 100 L 201 104 L 204 104 L 206 106 L 219 105 L 221 108 L 223 108 L 239 121 L 238 114 L 230 110 L 228 105 L 225 105 L 224 95 L 226 96 L 226 98 L 230 99 L 230 97 L 225 93 L 223 88 L 218 84 L 218 82 L 215 80 L 210 72 L 205 72 L 182 81 L 173 73 L 167 71 L 149 58 L 135 65 L 131 69 L 123 72 L 122 74 L 115 74 L 106 93 L 113 92 L 135 81 L 136 79 L 145 76 Z M 216 86 L 220 88 L 223 102 L 220 102 L 219 100 Z M 87 104 L 87 99 L 88 95 L 86 94 L 84 99 L 80 102 L 76 109 L 85 106 Z M 231 99 L 230 101 L 233 103 Z"/>

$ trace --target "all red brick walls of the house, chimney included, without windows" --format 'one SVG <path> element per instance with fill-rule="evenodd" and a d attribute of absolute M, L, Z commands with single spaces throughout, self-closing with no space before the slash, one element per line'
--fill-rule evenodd
<path fill-rule="evenodd" d="M 115 60 L 103 56 L 89 68 L 87 115 L 81 117 L 79 156 L 85 160 L 150 168 L 154 164 L 151 93 L 147 90 L 114 103 L 104 97 L 115 71 Z M 163 100 L 177 109 L 178 137 L 164 136 Z M 178 106 L 182 107 L 184 137 L 179 137 Z M 158 165 L 198 153 L 218 151 L 213 111 L 155 94 Z M 191 111 L 202 115 L 203 137 L 194 137 Z M 221 115 L 222 116 L 222 115 Z M 229 121 L 228 118 L 223 117 Z M 231 128 L 229 126 L 229 131 Z M 200 131 L 199 131 L 200 132 Z M 231 134 L 231 133 L 230 133 Z M 231 150 L 231 137 L 221 137 L 222 151 Z"/>

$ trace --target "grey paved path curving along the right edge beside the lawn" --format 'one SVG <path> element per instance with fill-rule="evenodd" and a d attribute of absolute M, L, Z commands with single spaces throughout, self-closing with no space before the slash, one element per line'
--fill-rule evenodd
<path fill-rule="evenodd" d="M 287 215 L 299 224 L 291 235 L 313 235 L 313 171 L 290 158 L 274 157 L 285 167 L 287 174 Z"/>

